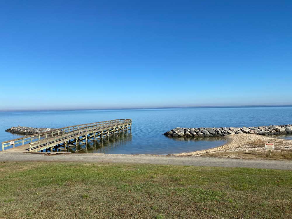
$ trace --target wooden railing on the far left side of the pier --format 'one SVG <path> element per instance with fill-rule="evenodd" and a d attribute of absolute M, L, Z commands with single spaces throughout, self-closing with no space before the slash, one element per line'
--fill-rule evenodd
<path fill-rule="evenodd" d="M 114 120 L 108 120 L 108 121 L 101 121 L 101 122 L 93 122 L 93 123 L 86 123 L 86 124 L 80 124 L 80 125 L 74 125 L 74 126 L 66 126 L 63 128 L 58 128 L 58 129 L 54 129 L 51 131 L 46 131 L 46 132 L 42 132 L 42 133 L 37 133 L 37 134 L 33 134 L 33 135 L 28 135 L 28 136 L 24 136 L 21 138 L 16 138 L 16 139 L 12 139 L 12 140 L 8 140 L 8 141 L 4 141 L 2 142 L 2 150 L 4 150 L 4 147 L 8 147 L 8 146 L 13 146 L 15 147 L 15 145 L 17 144 L 21 144 L 21 145 L 25 145 L 28 143 L 25 142 L 36 142 L 34 140 L 43 140 L 46 139 L 48 137 L 53 137 L 53 136 L 57 136 L 60 134 L 65 134 L 68 133 L 70 131 L 76 131 L 79 130 L 80 128 L 84 128 L 84 127 L 90 127 L 90 125 L 93 126 L 98 126 L 98 125 L 102 125 L 102 124 L 112 124 L 112 123 L 116 123 L 116 122 L 121 122 L 121 121 L 127 121 L 127 120 L 131 120 L 131 119 L 114 119 Z M 76 128 L 75 128 L 76 127 Z"/>

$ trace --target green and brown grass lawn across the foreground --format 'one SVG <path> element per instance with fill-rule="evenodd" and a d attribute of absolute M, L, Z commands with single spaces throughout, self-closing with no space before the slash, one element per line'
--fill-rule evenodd
<path fill-rule="evenodd" d="M 0 163 L 0 218 L 292 218 L 292 172 Z"/>

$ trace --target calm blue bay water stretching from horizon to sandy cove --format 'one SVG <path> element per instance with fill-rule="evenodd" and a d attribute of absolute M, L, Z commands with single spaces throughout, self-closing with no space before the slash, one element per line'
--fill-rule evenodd
<path fill-rule="evenodd" d="M 222 107 L 128 110 L 1 112 L 0 141 L 18 138 L 11 126 L 61 128 L 111 119 L 133 119 L 131 132 L 83 145 L 84 152 L 108 154 L 172 154 L 224 144 L 224 138 L 172 139 L 162 135 L 175 127 L 261 126 L 291 124 L 292 107 Z"/>

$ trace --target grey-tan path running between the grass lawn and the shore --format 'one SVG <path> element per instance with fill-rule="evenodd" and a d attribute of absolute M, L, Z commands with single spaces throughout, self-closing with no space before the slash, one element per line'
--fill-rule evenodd
<path fill-rule="evenodd" d="M 292 161 L 245 160 L 215 157 L 179 157 L 163 155 L 60 154 L 44 156 L 20 152 L 0 152 L 0 161 L 97 162 L 127 164 L 171 164 L 187 166 L 248 167 L 292 170 Z"/>

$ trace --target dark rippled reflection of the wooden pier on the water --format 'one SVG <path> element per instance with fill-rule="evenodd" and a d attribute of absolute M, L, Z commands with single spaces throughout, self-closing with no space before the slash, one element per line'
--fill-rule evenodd
<path fill-rule="evenodd" d="M 131 140 L 131 132 L 120 132 L 119 135 L 115 134 L 109 135 L 109 137 L 104 136 L 103 138 L 96 138 L 95 142 L 93 139 L 88 139 L 87 144 L 80 142 L 80 149 L 84 149 L 81 150 L 80 153 L 106 153 L 108 150 L 120 147 Z M 74 151 L 74 148 L 72 148 L 72 151 Z"/>

